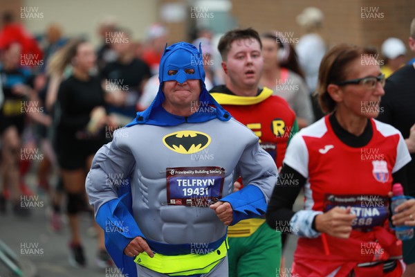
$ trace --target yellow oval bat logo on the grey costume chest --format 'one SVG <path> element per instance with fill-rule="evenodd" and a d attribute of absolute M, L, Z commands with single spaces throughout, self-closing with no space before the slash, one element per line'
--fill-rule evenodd
<path fill-rule="evenodd" d="M 210 136 L 198 131 L 178 131 L 167 134 L 163 143 L 169 150 L 180 154 L 194 154 L 210 145 Z"/>

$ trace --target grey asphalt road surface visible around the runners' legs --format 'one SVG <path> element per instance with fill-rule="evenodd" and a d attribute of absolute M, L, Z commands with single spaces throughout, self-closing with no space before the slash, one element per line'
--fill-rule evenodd
<path fill-rule="evenodd" d="M 28 184 L 30 186 L 30 177 Z M 33 186 L 30 186 L 35 188 Z M 14 251 L 19 260 L 28 260 L 33 263 L 37 269 L 39 277 L 109 277 L 119 276 L 115 269 L 100 269 L 95 264 L 97 244 L 95 238 L 89 235 L 88 229 L 92 226 L 91 217 L 82 215 L 81 230 L 82 242 L 87 259 L 87 266 L 82 269 L 72 267 L 68 262 L 68 226 L 64 226 L 62 233 L 53 233 L 48 229 L 48 217 L 46 216 L 46 206 L 48 201 L 46 195 L 37 194 L 34 199 L 26 199 L 32 211 L 30 217 L 17 217 L 12 214 L 11 206 L 8 206 L 6 214 L 0 214 L 0 240 L 3 240 L 12 251 Z M 29 201 L 30 200 L 30 201 Z M 302 204 L 302 197 L 297 199 L 296 206 Z M 293 260 L 293 251 L 296 245 L 296 238 L 290 236 L 288 244 L 284 251 L 286 265 L 282 272 L 290 272 Z M 29 263 L 25 263 L 29 265 Z M 289 275 L 284 275 L 289 276 Z M 0 263 L 0 277 L 14 277 L 6 273 L 4 265 Z"/>

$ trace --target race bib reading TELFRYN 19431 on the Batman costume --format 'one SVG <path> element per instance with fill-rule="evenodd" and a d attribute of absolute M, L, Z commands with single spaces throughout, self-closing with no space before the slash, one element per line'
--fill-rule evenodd
<path fill-rule="evenodd" d="M 208 208 L 222 198 L 224 179 L 216 166 L 167 168 L 167 203 Z"/>

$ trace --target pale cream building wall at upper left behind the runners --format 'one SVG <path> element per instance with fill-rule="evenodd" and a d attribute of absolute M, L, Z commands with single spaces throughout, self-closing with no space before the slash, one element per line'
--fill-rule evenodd
<path fill-rule="evenodd" d="M 0 6 L 0 12 L 13 10 L 16 19 L 35 35 L 58 22 L 65 35 L 84 35 L 95 45 L 99 42 L 98 24 L 104 17 L 115 17 L 120 26 L 131 30 L 133 39 L 144 39 L 145 28 L 157 20 L 157 1 L 148 0 L 0 0 Z M 32 17 L 43 14 L 43 18 L 21 18 L 21 8 L 29 14 L 30 7 L 37 10 Z"/>

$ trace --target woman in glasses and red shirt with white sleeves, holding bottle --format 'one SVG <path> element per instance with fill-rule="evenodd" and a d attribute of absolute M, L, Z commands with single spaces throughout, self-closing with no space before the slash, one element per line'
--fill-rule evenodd
<path fill-rule="evenodd" d="M 389 228 L 389 192 L 394 183 L 406 186 L 404 166 L 411 158 L 400 132 L 373 119 L 385 93 L 375 54 L 342 44 L 324 56 L 317 91 L 330 114 L 288 146 L 267 222 L 272 228 L 286 222 L 299 235 L 295 276 L 403 273 L 401 242 Z M 293 181 L 298 186 L 286 186 Z M 304 210 L 295 213 L 301 188 Z M 392 217 L 396 226 L 415 214 L 415 201 L 399 211 Z"/>

